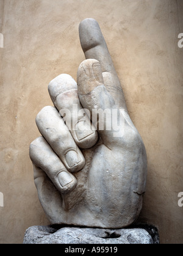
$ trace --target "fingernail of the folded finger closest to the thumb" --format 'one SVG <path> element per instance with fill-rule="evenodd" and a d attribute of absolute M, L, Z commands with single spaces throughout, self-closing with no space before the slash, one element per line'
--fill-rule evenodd
<path fill-rule="evenodd" d="M 78 141 L 81 141 L 85 137 L 93 134 L 93 131 L 90 128 L 90 124 L 86 123 L 86 121 L 79 121 L 75 126 L 75 133 L 77 136 Z"/>

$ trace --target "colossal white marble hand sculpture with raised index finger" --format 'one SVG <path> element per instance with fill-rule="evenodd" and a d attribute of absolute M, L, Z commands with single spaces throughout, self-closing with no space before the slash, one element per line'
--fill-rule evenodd
<path fill-rule="evenodd" d="M 54 106 L 36 117 L 41 136 L 30 144 L 35 186 L 52 224 L 123 228 L 142 209 L 146 150 L 98 23 L 83 20 L 79 37 L 86 60 L 77 83 L 66 74 L 54 78 L 48 86 Z"/>

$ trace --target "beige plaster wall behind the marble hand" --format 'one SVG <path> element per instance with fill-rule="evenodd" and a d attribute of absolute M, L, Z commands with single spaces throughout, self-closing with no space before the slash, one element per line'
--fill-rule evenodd
<path fill-rule="evenodd" d="M 39 135 L 35 116 L 52 104 L 49 81 L 60 73 L 76 79 L 84 60 L 78 26 L 88 17 L 101 26 L 145 142 L 148 181 L 139 221 L 156 225 L 161 243 L 182 243 L 183 1 L 0 0 L 0 15 L 0 243 L 22 243 L 27 227 L 48 224 L 29 144 Z"/>

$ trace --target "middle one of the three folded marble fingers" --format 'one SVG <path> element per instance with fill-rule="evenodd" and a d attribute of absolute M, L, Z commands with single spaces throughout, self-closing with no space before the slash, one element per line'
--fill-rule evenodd
<path fill-rule="evenodd" d="M 38 130 L 62 160 L 66 169 L 70 172 L 81 170 L 85 164 L 84 156 L 57 109 L 46 106 L 37 114 L 35 121 Z"/>

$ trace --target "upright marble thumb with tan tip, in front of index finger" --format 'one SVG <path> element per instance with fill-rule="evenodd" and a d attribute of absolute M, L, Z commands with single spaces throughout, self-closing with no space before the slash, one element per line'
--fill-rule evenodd
<path fill-rule="evenodd" d="M 117 145 L 124 133 L 124 109 L 118 109 L 107 91 L 98 60 L 84 60 L 77 71 L 79 100 L 107 147 Z M 86 111 L 88 113 L 88 111 Z"/>

